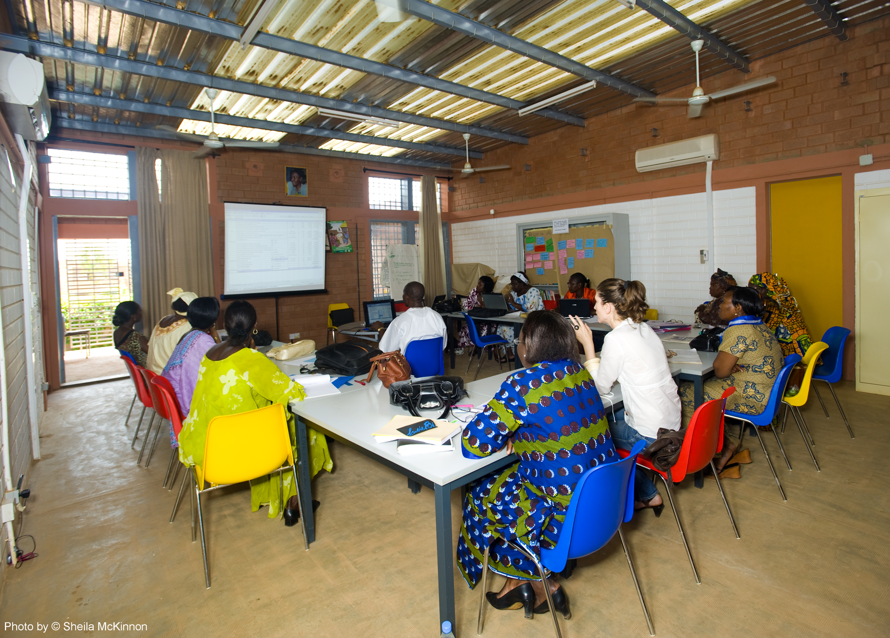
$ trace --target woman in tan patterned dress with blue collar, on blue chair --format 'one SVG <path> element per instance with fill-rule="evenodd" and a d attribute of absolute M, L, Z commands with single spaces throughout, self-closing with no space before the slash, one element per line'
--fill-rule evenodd
<path fill-rule="evenodd" d="M 764 303 L 754 290 L 731 287 L 723 295 L 720 319 L 729 323 L 721 335 L 720 351 L 714 359 L 714 377 L 703 385 L 704 400 L 719 399 L 724 390 L 735 387 L 726 400 L 726 409 L 746 415 L 759 415 L 766 408 L 773 383 L 784 365 L 779 340 L 766 327 Z M 695 412 L 692 383 L 680 384 L 683 427 Z M 739 436 L 734 429 L 724 429 L 724 448 L 717 470 L 739 451 Z M 723 478 L 721 476 L 721 478 Z M 734 476 L 732 478 L 739 478 Z"/>

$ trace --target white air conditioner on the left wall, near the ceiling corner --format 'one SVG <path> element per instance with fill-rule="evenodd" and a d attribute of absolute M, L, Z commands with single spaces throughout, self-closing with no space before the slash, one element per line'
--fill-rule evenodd
<path fill-rule="evenodd" d="M 12 133 L 31 141 L 50 134 L 53 114 L 43 64 L 21 53 L 0 51 L 0 97 Z"/>

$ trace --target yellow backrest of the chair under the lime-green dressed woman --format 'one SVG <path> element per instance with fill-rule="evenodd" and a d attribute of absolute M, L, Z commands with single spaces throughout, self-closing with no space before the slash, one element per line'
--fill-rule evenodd
<path fill-rule="evenodd" d="M 279 469 L 285 460 L 293 464 L 294 452 L 280 403 L 214 416 L 207 424 L 200 469 L 204 481 L 215 485 L 250 481 Z"/>

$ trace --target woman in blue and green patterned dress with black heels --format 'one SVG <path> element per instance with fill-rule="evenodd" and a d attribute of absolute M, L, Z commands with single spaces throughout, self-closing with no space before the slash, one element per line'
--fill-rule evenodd
<path fill-rule="evenodd" d="M 462 437 L 468 458 L 489 456 L 505 446 L 520 457 L 505 470 L 473 482 L 467 492 L 457 565 L 471 588 L 481 577 L 492 530 L 539 556 L 540 547 L 556 545 L 581 475 L 618 458 L 603 402 L 578 363 L 569 322 L 554 312 L 531 312 L 517 343 L 527 369 L 507 377 Z M 499 593 L 486 594 L 493 607 L 524 607 L 526 618 L 547 610 L 538 572 L 522 553 L 498 539 L 490 548 L 489 567 L 507 577 Z M 553 580 L 547 584 L 554 607 L 568 618 L 562 587 Z"/>

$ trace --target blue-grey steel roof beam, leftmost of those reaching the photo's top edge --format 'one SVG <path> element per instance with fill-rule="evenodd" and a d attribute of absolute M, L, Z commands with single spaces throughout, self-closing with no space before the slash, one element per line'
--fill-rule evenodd
<path fill-rule="evenodd" d="M 98 3 L 97 3 L 98 4 Z M 165 6 L 163 4 L 155 4 L 147 2 L 147 0 L 103 0 L 101 5 L 106 9 L 127 13 L 129 15 L 163 22 L 165 24 L 174 25 L 176 27 L 190 28 L 193 31 L 207 33 L 213 36 L 224 37 L 228 40 L 239 41 L 243 28 L 231 22 L 223 22 L 223 20 L 215 20 L 198 13 L 182 11 L 174 9 L 174 7 Z M 316 44 L 307 44 L 299 40 L 292 40 L 289 37 L 273 36 L 271 33 L 260 31 L 254 36 L 251 42 L 254 46 L 270 51 L 288 53 L 307 60 L 315 60 L 333 64 L 336 67 L 344 69 L 352 69 L 362 73 L 371 73 L 376 76 L 390 77 L 394 80 L 409 82 L 410 84 L 425 86 L 426 88 L 435 89 L 442 93 L 451 93 L 471 100 L 494 104 L 505 109 L 522 109 L 525 102 L 512 100 L 498 95 L 498 93 L 489 93 L 474 89 L 470 86 L 460 85 L 457 82 L 449 82 L 438 77 L 426 76 L 423 73 L 409 71 L 408 69 L 400 69 L 383 62 L 365 60 L 355 55 L 339 52 L 334 49 L 327 49 Z M 651 95 L 651 94 L 650 94 Z M 553 109 L 541 109 L 538 115 L 550 117 L 567 124 L 576 126 L 584 126 L 584 118 L 561 113 Z"/>

